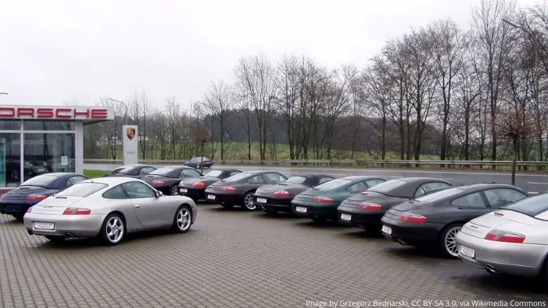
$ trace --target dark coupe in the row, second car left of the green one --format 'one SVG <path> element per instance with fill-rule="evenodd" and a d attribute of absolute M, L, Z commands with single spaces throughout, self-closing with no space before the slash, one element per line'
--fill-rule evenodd
<path fill-rule="evenodd" d="M 253 194 L 257 188 L 286 181 L 287 177 L 275 171 L 257 170 L 233 175 L 209 185 L 205 194 L 208 203 L 221 203 L 223 207 L 242 205 L 245 210 L 256 210 Z"/>

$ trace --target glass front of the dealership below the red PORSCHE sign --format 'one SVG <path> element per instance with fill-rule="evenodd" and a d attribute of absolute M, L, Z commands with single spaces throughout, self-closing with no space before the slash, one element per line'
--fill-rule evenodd
<path fill-rule="evenodd" d="M 0 120 L 0 188 L 39 174 L 75 172 L 75 127 L 74 121 Z"/>

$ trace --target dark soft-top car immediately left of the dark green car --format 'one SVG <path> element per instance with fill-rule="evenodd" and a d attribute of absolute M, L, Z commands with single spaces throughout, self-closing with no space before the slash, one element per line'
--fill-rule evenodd
<path fill-rule="evenodd" d="M 259 187 L 253 195 L 253 202 L 256 207 L 269 214 L 291 212 L 291 200 L 296 195 L 332 179 L 334 177 L 327 174 L 301 174 L 289 177 L 280 184 Z"/>

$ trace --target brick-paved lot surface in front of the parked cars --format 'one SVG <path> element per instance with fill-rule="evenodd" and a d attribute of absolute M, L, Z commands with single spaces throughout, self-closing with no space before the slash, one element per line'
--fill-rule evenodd
<path fill-rule="evenodd" d="M 360 229 L 199 207 L 188 233 L 145 233 L 115 247 L 93 240 L 56 245 L 0 215 L 0 307 L 548 304 L 532 281 L 490 276 Z"/>

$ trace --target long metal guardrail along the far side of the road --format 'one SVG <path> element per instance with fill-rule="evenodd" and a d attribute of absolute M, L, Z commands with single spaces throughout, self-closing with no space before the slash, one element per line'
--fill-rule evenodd
<path fill-rule="evenodd" d="M 150 165 L 166 165 L 166 164 L 182 164 L 188 160 L 138 160 L 142 164 Z M 104 160 L 104 159 L 84 159 L 84 164 L 121 164 L 123 160 Z M 511 166 L 512 162 L 510 160 L 500 160 L 500 161 L 490 161 L 490 160 L 214 160 L 216 165 L 260 165 L 260 166 L 318 166 L 318 165 L 328 165 L 328 166 L 356 166 L 356 167 L 366 167 L 366 166 L 379 166 L 379 167 L 390 167 L 390 166 L 441 166 L 445 165 L 448 167 L 465 167 L 465 166 L 476 166 L 476 167 L 504 167 Z M 537 162 L 537 161 L 518 161 L 516 166 L 519 167 L 547 167 L 548 162 Z"/>

